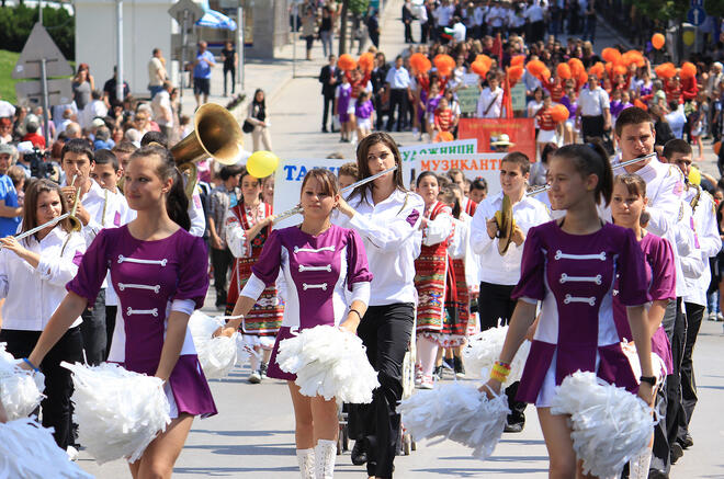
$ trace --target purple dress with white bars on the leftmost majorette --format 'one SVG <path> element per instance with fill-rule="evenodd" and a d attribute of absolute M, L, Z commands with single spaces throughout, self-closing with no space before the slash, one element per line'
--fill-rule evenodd
<path fill-rule="evenodd" d="M 66 288 L 92 307 L 108 271 L 118 295 L 118 317 L 123 318 L 125 331 L 123 364 L 128 370 L 152 376 L 161 358 L 170 312 L 191 315 L 204 304 L 208 289 L 206 246 L 202 238 L 183 228 L 156 241 L 134 238 L 128 226 L 103 229 Z M 179 413 L 216 414 L 188 329 L 179 361 L 166 383 L 166 394 L 171 418 Z"/>

